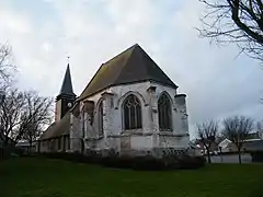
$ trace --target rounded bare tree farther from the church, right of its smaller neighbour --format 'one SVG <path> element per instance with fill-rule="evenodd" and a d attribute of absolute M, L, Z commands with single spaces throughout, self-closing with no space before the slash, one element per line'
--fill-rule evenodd
<path fill-rule="evenodd" d="M 222 125 L 222 132 L 236 144 L 239 154 L 239 163 L 241 163 L 241 149 L 244 140 L 254 128 L 254 120 L 245 116 L 235 116 L 224 119 Z"/>

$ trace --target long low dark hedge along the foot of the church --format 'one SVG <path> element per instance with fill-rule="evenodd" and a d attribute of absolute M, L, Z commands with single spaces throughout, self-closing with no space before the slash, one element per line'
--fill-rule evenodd
<path fill-rule="evenodd" d="M 42 155 L 50 159 L 62 159 L 73 162 L 95 163 L 106 167 L 116 169 L 133 169 L 140 171 L 164 171 L 171 169 L 198 169 L 205 165 L 206 160 L 203 157 L 190 157 L 187 154 L 181 154 L 178 157 L 165 157 L 162 159 L 155 158 L 152 155 L 118 155 L 111 152 L 107 155 L 102 157 L 101 153 L 95 151 L 89 151 L 87 154 L 78 152 L 66 153 L 42 153 Z"/>

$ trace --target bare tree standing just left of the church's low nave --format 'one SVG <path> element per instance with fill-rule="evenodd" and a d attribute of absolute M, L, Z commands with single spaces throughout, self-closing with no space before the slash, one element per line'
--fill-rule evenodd
<path fill-rule="evenodd" d="M 36 92 L 30 91 L 24 94 L 25 106 L 21 111 L 20 126 L 15 134 L 15 140 L 25 139 L 32 143 L 37 140 L 53 119 L 53 100 L 39 96 Z"/>

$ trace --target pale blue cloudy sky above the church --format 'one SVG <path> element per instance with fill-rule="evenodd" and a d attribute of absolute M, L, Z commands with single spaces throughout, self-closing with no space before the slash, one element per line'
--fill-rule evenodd
<path fill-rule="evenodd" d="M 262 119 L 263 69 L 235 45 L 195 30 L 197 0 L 0 0 L 0 43 L 12 46 L 18 84 L 56 96 L 70 56 L 80 94 L 101 63 L 139 44 L 187 95 L 190 130 L 232 115 Z"/>

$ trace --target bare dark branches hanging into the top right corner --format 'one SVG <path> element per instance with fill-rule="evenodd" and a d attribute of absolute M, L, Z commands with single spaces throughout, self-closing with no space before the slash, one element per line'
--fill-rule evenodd
<path fill-rule="evenodd" d="M 199 0 L 207 13 L 197 28 L 201 37 L 219 44 L 236 43 L 240 53 L 263 61 L 262 0 Z"/>

